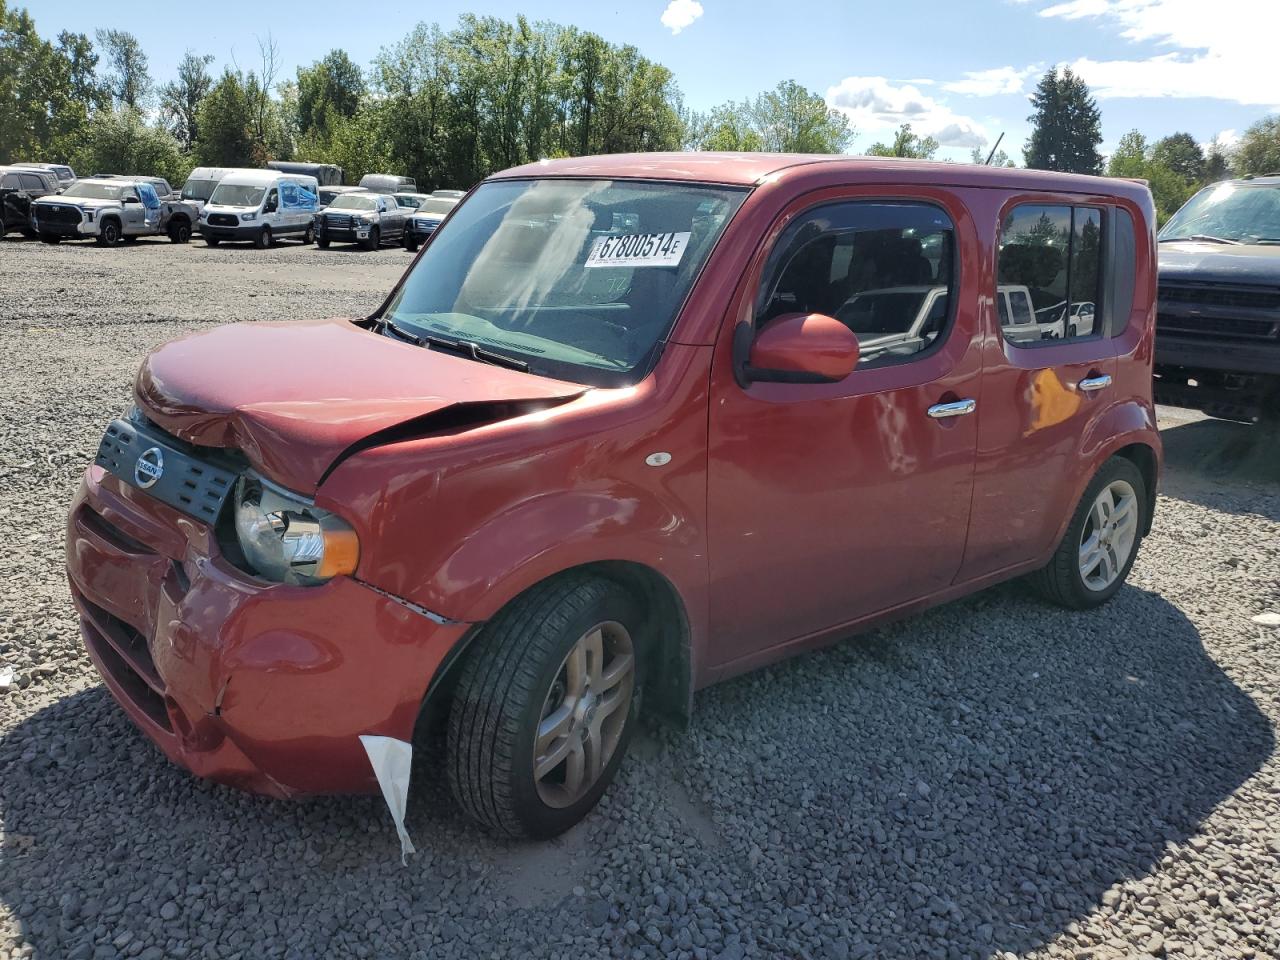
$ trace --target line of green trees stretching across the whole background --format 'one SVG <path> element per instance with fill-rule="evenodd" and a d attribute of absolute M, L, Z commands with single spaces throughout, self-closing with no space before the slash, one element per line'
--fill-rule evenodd
<path fill-rule="evenodd" d="M 70 163 L 82 173 L 148 173 L 180 183 L 196 165 L 332 163 L 348 180 L 401 173 L 424 189 L 468 187 L 543 157 L 650 150 L 844 152 L 849 118 L 794 81 L 705 113 L 685 109 L 671 70 L 630 45 L 548 22 L 466 14 L 421 23 L 362 68 L 346 51 L 283 76 L 274 41 L 248 65 L 211 72 L 187 51 L 157 83 L 133 35 L 41 38 L 0 0 L 0 160 Z M 1161 220 L 1198 187 L 1280 170 L 1280 116 L 1228 148 L 1185 132 L 1125 134 L 1101 154 L 1101 113 L 1084 81 L 1050 69 L 1032 97 L 1028 166 L 1148 180 Z M 902 124 L 865 152 L 933 159 L 938 142 Z M 974 163 L 987 156 L 974 150 Z M 1014 165 L 1004 151 L 991 161 Z"/>

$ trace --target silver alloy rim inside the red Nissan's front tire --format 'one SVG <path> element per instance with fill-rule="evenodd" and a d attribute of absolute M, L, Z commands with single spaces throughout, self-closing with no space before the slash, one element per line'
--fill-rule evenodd
<path fill-rule="evenodd" d="M 622 739 L 635 689 L 635 646 L 607 621 L 570 649 L 543 701 L 534 781 L 548 806 L 570 806 L 595 785 Z"/>

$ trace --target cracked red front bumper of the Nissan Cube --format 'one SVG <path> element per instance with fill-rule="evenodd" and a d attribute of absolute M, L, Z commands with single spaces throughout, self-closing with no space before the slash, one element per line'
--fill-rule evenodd
<path fill-rule="evenodd" d="M 253 580 L 214 530 L 101 467 L 72 504 L 67 570 L 90 657 L 174 763 L 273 796 L 376 792 L 361 736 L 412 740 L 470 625 L 352 577 Z"/>

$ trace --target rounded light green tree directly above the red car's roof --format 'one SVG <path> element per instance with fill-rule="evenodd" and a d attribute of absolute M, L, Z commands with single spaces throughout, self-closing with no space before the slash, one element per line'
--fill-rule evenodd
<path fill-rule="evenodd" d="M 795 81 L 685 120 L 685 143 L 692 150 L 840 154 L 852 140 L 849 118 Z"/>

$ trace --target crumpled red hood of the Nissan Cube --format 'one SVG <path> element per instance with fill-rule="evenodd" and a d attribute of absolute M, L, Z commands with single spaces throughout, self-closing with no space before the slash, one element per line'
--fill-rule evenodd
<path fill-rule="evenodd" d="M 239 449 L 300 493 L 314 493 L 372 434 L 412 421 L 415 435 L 425 435 L 433 416 L 462 406 L 500 420 L 585 389 L 379 337 L 346 319 L 218 326 L 152 351 L 134 384 L 142 411 L 164 430 Z M 485 417 L 470 422 L 477 420 Z"/>

